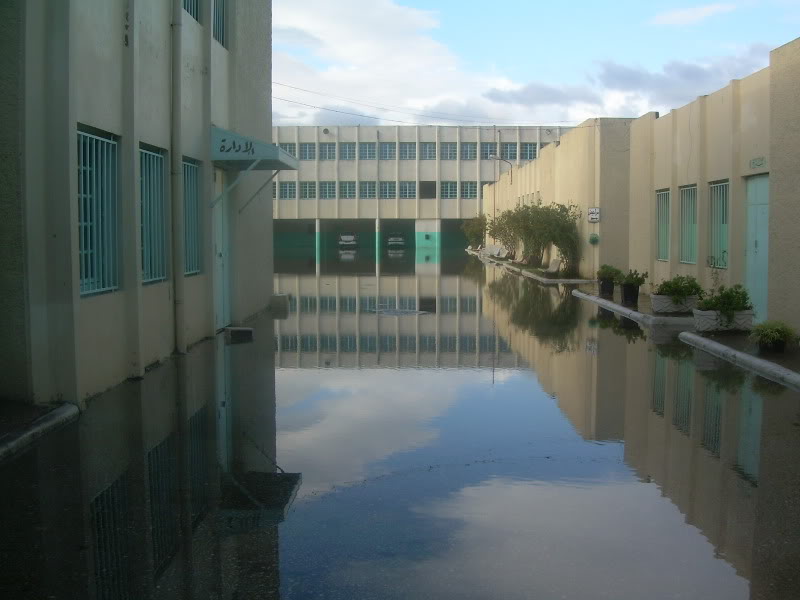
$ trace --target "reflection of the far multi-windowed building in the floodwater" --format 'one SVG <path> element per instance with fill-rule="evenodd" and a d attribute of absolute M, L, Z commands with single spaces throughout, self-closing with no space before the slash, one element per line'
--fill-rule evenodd
<path fill-rule="evenodd" d="M 290 295 L 276 322 L 280 367 L 518 367 L 460 276 L 275 275 Z"/>

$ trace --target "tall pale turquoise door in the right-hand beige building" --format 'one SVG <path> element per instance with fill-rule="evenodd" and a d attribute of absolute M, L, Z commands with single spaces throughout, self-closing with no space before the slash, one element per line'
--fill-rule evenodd
<path fill-rule="evenodd" d="M 747 179 L 747 245 L 745 287 L 756 322 L 767 318 L 769 275 L 769 175 Z"/>

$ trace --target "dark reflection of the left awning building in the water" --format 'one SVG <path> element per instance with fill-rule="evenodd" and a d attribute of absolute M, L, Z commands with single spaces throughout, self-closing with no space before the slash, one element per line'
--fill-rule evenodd
<path fill-rule="evenodd" d="M 110 390 L 3 465 L 0 514 L 14 517 L 0 596 L 278 597 L 277 524 L 293 489 L 274 458 L 271 321 L 256 330 L 253 344 L 218 336 Z M 218 404 L 215 363 L 229 391 Z"/>

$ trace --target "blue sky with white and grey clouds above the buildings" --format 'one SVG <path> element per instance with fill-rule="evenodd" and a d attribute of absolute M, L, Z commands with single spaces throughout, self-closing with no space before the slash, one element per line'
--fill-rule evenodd
<path fill-rule="evenodd" d="M 800 0 L 274 0 L 273 118 L 574 124 L 664 112 L 765 67 L 798 31 Z"/>

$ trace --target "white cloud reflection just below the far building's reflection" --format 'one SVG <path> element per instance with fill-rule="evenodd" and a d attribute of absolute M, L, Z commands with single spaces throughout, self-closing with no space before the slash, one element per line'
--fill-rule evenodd
<path fill-rule="evenodd" d="M 463 370 L 453 385 L 441 371 L 382 369 L 378 384 L 371 371 L 278 371 L 278 462 L 303 473 L 301 495 L 361 480 L 370 463 L 435 440 L 429 422 L 490 377 Z"/>

